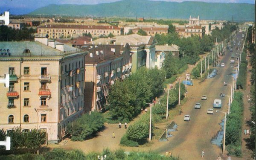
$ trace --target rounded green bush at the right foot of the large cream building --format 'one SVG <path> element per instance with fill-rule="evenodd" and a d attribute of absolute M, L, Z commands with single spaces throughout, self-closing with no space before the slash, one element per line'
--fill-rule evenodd
<path fill-rule="evenodd" d="M 71 140 L 82 141 L 90 138 L 104 125 L 105 119 L 102 113 L 86 113 L 74 122 L 67 125 L 67 133 L 72 135 Z"/>

